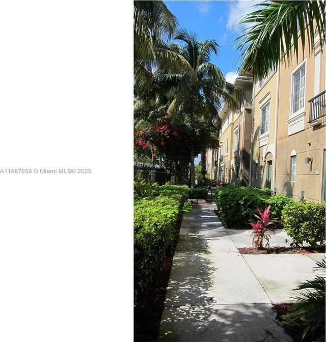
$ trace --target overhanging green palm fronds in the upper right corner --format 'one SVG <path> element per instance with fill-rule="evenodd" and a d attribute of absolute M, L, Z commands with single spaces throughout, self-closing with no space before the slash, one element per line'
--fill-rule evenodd
<path fill-rule="evenodd" d="M 289 65 L 292 50 L 298 56 L 299 39 L 302 48 L 306 47 L 306 35 L 300 32 L 307 32 L 311 52 L 316 33 L 320 42 L 325 40 L 325 1 L 264 1 L 256 6 L 262 9 L 240 21 L 254 25 L 236 39 L 240 40 L 237 48 L 242 50 L 240 58 L 243 57 L 239 73 L 248 70 L 260 79 L 276 69 L 280 60 L 287 60 Z"/>

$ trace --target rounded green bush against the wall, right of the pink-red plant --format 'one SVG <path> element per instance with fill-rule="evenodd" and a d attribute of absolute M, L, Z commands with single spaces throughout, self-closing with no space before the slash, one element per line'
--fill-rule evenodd
<path fill-rule="evenodd" d="M 325 245 L 325 204 L 307 201 L 289 203 L 281 214 L 284 231 L 292 238 L 292 246 L 307 242 L 318 248 Z"/>

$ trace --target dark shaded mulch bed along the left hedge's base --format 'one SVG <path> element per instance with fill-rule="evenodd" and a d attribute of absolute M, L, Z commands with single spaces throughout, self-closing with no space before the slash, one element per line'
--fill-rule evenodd
<path fill-rule="evenodd" d="M 177 245 L 181 219 L 178 220 L 174 231 L 174 247 Z M 150 284 L 146 293 L 139 299 L 139 304 L 133 310 L 133 334 L 135 342 L 155 341 L 158 335 L 161 314 L 167 294 L 173 255 L 165 258 L 161 270 Z"/>

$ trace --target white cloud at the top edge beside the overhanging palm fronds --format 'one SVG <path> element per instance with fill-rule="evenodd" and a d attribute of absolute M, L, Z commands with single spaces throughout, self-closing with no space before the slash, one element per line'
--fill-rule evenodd
<path fill-rule="evenodd" d="M 226 24 L 227 29 L 239 33 L 243 29 L 246 29 L 247 27 L 252 26 L 252 24 L 238 25 L 238 23 L 244 15 L 251 13 L 253 11 L 256 11 L 258 8 L 255 7 L 254 5 L 257 5 L 259 3 L 260 1 L 248 1 L 248 0 L 230 1 L 228 22 Z"/>

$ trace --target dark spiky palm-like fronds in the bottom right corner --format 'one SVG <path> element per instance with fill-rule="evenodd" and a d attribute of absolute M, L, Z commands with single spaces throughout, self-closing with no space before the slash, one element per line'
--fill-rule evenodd
<path fill-rule="evenodd" d="M 306 291 L 293 298 L 297 303 L 281 317 L 282 325 L 287 328 L 296 331 L 303 329 L 302 340 L 316 338 L 325 332 L 325 259 L 317 263 L 315 270 L 319 270 L 321 275 L 301 283 L 295 289 Z"/>

